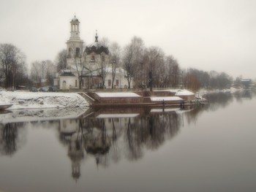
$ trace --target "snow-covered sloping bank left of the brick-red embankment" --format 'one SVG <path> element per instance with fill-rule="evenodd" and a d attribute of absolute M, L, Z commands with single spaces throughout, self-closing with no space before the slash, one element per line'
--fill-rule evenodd
<path fill-rule="evenodd" d="M 0 92 L 0 104 L 12 104 L 8 110 L 88 107 L 88 102 L 78 93 L 42 93 L 42 92 Z"/>

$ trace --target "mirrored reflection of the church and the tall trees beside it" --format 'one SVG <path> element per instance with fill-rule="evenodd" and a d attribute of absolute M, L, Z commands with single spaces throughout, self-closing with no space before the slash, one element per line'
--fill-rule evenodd
<path fill-rule="evenodd" d="M 178 134 L 180 109 L 105 109 L 79 119 L 60 120 L 59 138 L 68 147 L 72 177 L 80 177 L 80 163 L 93 156 L 97 166 L 121 158 L 138 160 L 145 150 L 160 147 Z"/>

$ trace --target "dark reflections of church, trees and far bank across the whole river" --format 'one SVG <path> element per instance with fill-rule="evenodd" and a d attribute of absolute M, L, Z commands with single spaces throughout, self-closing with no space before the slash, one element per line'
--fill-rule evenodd
<path fill-rule="evenodd" d="M 0 153 L 12 155 L 23 147 L 28 123 L 20 122 L 22 119 L 26 118 L 26 122 L 30 121 L 35 128 L 43 128 L 46 121 L 45 127 L 58 130 L 59 141 L 67 150 L 67 158 L 71 162 L 71 175 L 78 180 L 81 176 L 80 166 L 83 162 L 86 163 L 87 158 L 94 158 L 95 166 L 98 168 L 108 167 L 122 159 L 138 161 L 143 158 L 147 150 L 157 150 L 166 140 L 176 137 L 184 126 L 184 120 L 188 123 L 196 123 L 202 112 L 225 107 L 233 99 L 239 101 L 244 97 L 251 99 L 253 94 L 255 93 L 245 92 L 235 95 L 214 93 L 205 96 L 210 104 L 182 110 L 178 108 L 99 109 L 88 110 L 83 115 L 79 115 L 79 118 L 56 119 L 52 115 L 53 118 L 49 119 L 50 115 L 48 115 L 48 120 L 42 120 L 41 115 L 53 114 L 53 111 L 1 114 L 9 116 L 4 118 L 1 116 Z M 7 118 L 10 115 L 15 118 Z"/>

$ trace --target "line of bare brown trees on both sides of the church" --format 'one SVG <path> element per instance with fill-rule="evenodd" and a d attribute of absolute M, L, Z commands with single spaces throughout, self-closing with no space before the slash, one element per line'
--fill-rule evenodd
<path fill-rule="evenodd" d="M 110 42 L 108 38 L 102 38 L 101 44 L 110 50 L 109 64 L 113 80 L 116 69 L 121 67 L 129 88 L 132 88 L 132 81 L 133 88 L 150 90 L 187 88 L 198 91 L 200 88 L 223 89 L 233 84 L 241 85 L 241 77 L 234 80 L 225 72 L 182 69 L 173 55 L 165 55 L 160 47 L 146 47 L 140 37 L 133 37 L 124 47 L 117 42 Z M 29 72 L 26 55 L 18 47 L 0 44 L 0 83 L 4 88 L 17 88 L 18 85 L 53 85 L 55 74 L 61 69 L 67 69 L 67 50 L 61 50 L 55 61 L 33 61 L 30 66 Z"/>

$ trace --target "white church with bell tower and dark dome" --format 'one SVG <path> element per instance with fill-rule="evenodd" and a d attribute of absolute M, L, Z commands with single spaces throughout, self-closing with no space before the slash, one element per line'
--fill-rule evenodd
<path fill-rule="evenodd" d="M 60 90 L 95 89 L 95 88 L 127 88 L 124 69 L 113 67 L 108 47 L 98 41 L 83 48 L 80 39 L 79 20 L 74 17 L 70 21 L 70 37 L 67 41 L 67 68 L 61 69 L 54 78 L 54 85 Z M 131 84 L 132 85 L 132 84 Z"/>

